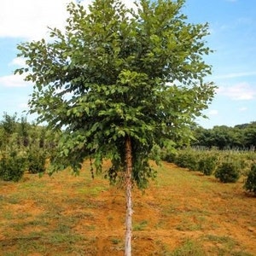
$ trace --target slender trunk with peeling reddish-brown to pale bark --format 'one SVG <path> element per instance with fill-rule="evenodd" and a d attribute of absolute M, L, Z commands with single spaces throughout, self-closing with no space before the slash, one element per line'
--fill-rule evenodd
<path fill-rule="evenodd" d="M 126 232 L 125 232 L 125 256 L 131 256 L 131 215 L 132 215 L 132 200 L 131 200 L 131 137 L 127 137 L 125 141 L 125 189 L 126 189 Z"/>

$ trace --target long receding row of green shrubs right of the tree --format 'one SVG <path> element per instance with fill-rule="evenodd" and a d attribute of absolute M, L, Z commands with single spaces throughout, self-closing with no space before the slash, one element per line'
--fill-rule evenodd
<path fill-rule="evenodd" d="M 256 154 L 241 151 L 183 149 L 163 153 L 162 159 L 189 171 L 214 175 L 222 183 L 236 183 L 245 178 L 244 188 L 256 195 Z"/>

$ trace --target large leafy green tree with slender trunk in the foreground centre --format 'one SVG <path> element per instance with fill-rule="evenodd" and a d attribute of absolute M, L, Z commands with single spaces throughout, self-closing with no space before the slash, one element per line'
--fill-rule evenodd
<path fill-rule="evenodd" d="M 155 176 L 149 165 L 154 145 L 186 141 L 189 125 L 214 95 L 203 79 L 211 67 L 203 56 L 207 24 L 189 24 L 183 0 L 142 0 L 137 11 L 120 0 L 95 0 L 87 11 L 67 6 L 65 32 L 50 29 L 52 40 L 20 44 L 19 56 L 34 83 L 30 113 L 38 122 L 62 129 L 52 172 L 85 157 L 102 161 L 111 183 L 126 191 L 125 255 L 131 255 L 131 189 L 145 189 Z"/>

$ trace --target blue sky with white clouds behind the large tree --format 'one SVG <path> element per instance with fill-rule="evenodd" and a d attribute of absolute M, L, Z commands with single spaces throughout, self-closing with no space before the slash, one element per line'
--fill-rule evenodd
<path fill-rule="evenodd" d="M 25 65 L 17 58 L 17 44 L 48 38 L 47 26 L 63 28 L 69 2 L 0 1 L 0 119 L 3 113 L 25 115 L 32 94 L 32 84 L 13 74 Z M 131 7 L 133 1 L 124 2 Z M 208 129 L 256 121 L 256 1 L 187 0 L 183 14 L 189 22 L 209 24 L 206 40 L 213 53 L 205 60 L 212 66 L 212 75 L 206 81 L 218 86 L 204 111 L 208 119 L 197 119 L 197 124 Z"/>

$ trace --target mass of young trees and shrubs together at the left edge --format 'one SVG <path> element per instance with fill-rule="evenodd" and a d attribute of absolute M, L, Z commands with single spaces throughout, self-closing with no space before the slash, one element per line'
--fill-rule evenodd
<path fill-rule="evenodd" d="M 57 138 L 58 132 L 4 113 L 0 121 L 1 177 L 18 181 L 25 170 L 23 164 L 28 172 L 44 172 L 46 157 L 54 153 Z"/>

